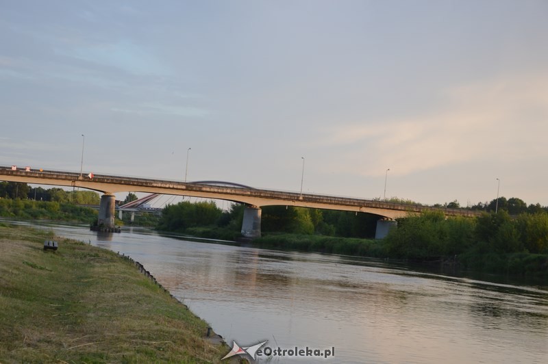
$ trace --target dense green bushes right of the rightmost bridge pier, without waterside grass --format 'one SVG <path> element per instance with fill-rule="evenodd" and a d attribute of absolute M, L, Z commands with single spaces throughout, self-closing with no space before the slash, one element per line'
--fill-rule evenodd
<path fill-rule="evenodd" d="M 548 213 L 512 217 L 499 211 L 477 218 L 445 218 L 442 212 L 428 212 L 399 219 L 386 244 L 388 254 L 399 258 L 451 257 L 470 249 L 548 254 Z"/>

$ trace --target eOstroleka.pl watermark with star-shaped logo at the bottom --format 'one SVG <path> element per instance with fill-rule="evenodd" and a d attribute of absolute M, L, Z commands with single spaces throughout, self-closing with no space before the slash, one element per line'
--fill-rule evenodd
<path fill-rule="evenodd" d="M 266 346 L 265 348 L 262 348 L 268 340 L 262 341 L 260 343 L 257 343 L 253 346 L 239 346 L 236 341 L 232 341 L 232 350 L 228 354 L 225 355 L 223 359 L 230 358 L 234 355 L 240 355 L 245 356 L 249 355 L 251 359 L 256 360 L 257 357 L 261 356 L 279 356 L 279 357 L 315 357 L 315 358 L 323 358 L 327 359 L 331 356 L 335 356 L 335 347 L 329 349 L 310 349 L 308 346 L 306 348 L 299 348 L 295 346 L 295 348 L 291 349 L 282 349 L 282 348 L 270 348 L 269 346 Z M 221 359 L 221 360 L 223 360 Z"/>

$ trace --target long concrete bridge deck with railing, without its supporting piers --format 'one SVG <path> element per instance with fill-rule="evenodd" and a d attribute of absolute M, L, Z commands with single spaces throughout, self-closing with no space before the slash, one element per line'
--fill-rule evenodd
<path fill-rule="evenodd" d="M 106 174 L 95 174 L 92 178 L 77 172 L 60 172 L 53 170 L 12 170 L 11 167 L 0 166 L 0 180 L 42 185 L 62 185 L 82 187 L 107 194 L 115 192 L 149 192 L 229 200 L 246 203 L 256 207 L 269 205 L 288 205 L 296 207 L 312 207 L 319 209 L 335 209 L 341 211 L 356 211 L 373 213 L 386 218 L 399 218 L 409 213 L 425 211 L 442 211 L 446 216 L 478 216 L 479 212 L 464 209 L 443 209 L 421 205 L 403 205 L 386 203 L 377 200 L 325 196 L 320 194 L 299 194 L 296 192 L 281 192 L 260 190 L 251 187 L 236 187 L 228 185 L 204 185 L 203 183 L 184 183 L 158 179 L 142 179 L 121 177 Z"/>

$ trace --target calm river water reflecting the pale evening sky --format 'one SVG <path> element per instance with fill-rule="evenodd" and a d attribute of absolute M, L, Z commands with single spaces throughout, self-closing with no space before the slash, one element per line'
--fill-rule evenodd
<path fill-rule="evenodd" d="M 40 226 L 131 256 L 229 344 L 334 348 L 328 359 L 275 363 L 548 363 L 547 282 L 191 242 L 148 229 L 103 236 L 82 225 Z"/>

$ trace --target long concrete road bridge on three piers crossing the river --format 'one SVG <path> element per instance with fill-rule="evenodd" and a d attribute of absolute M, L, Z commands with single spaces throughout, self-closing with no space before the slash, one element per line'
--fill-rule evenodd
<path fill-rule="evenodd" d="M 390 227 L 396 224 L 395 218 L 408 216 L 409 213 L 442 211 L 445 216 L 473 217 L 478 215 L 476 211 L 463 209 L 440 209 L 436 207 L 386 203 L 361 198 L 262 190 L 220 181 L 187 183 L 105 174 L 34 170 L 28 167 L 19 169 L 14 166 L 0 166 L 0 181 L 81 187 L 101 192 L 103 196 L 101 196 L 101 204 L 99 205 L 99 224 L 108 227 L 114 227 L 114 193 L 116 192 L 148 192 L 151 194 L 212 198 L 244 203 L 247 207 L 244 211 L 242 222 L 242 236 L 249 238 L 260 237 L 260 208 L 272 205 L 371 213 L 379 216 L 377 231 L 375 233 L 375 237 L 377 238 L 386 236 Z"/>

